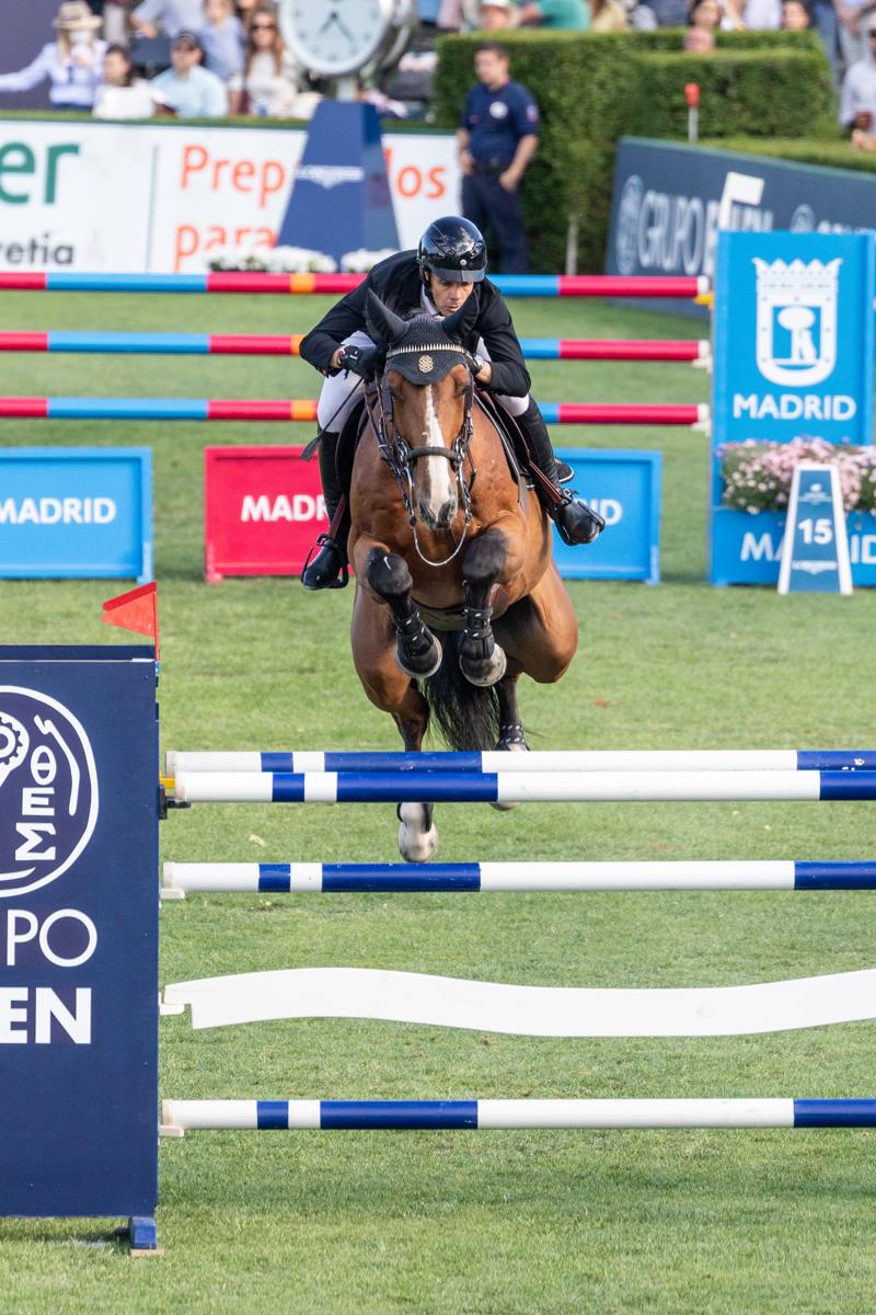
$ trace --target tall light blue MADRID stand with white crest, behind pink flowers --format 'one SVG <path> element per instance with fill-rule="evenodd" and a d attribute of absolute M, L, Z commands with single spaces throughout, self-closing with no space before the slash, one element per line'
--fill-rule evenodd
<path fill-rule="evenodd" d="M 711 497 L 713 584 L 775 584 L 779 513 L 722 505 L 730 443 L 871 446 L 872 234 L 721 233 L 714 304 Z M 850 523 L 852 579 L 873 584 L 871 517 Z M 856 533 L 858 531 L 858 533 Z M 764 535 L 767 538 L 764 538 Z"/>

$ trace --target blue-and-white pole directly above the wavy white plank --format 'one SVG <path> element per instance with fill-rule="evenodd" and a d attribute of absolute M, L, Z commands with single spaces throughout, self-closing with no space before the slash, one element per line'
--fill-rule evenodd
<path fill-rule="evenodd" d="M 876 890 L 876 861 L 165 863 L 162 898 L 525 890 Z"/>

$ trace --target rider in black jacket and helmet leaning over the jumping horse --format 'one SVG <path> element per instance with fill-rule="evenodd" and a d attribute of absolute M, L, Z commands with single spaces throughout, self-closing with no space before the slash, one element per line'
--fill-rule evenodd
<path fill-rule="evenodd" d="M 557 483 L 557 458 L 541 412 L 529 396 L 523 351 L 504 301 L 485 277 L 486 264 L 486 242 L 474 224 L 453 214 L 435 220 L 420 238 L 418 251 L 401 251 L 376 264 L 364 283 L 332 306 L 302 341 L 303 359 L 327 376 L 318 421 L 319 475 L 330 521 L 343 496 L 335 466 L 338 439 L 359 398 L 361 380 L 373 379 L 381 356 L 366 331 L 369 288 L 399 316 L 416 310 L 449 316 L 470 296 L 478 297 L 474 329 L 462 342 L 471 354 L 474 377 L 514 416 L 538 469 Z M 546 510 L 567 543 L 590 543 L 604 526 L 602 517 L 569 492 Z M 320 534 L 317 542 L 320 551 L 305 568 L 302 584 L 306 589 L 341 588 L 343 547 L 328 534 Z"/>

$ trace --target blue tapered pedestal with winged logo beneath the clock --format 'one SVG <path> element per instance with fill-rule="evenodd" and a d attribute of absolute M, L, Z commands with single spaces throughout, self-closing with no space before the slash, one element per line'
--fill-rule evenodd
<path fill-rule="evenodd" d="M 398 251 L 380 118 L 361 101 L 323 100 L 310 121 L 278 246 Z"/>

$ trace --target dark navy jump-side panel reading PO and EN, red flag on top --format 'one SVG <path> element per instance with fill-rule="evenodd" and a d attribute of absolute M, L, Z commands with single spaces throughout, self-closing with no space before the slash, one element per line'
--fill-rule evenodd
<path fill-rule="evenodd" d="M 0 1215 L 127 1215 L 146 1247 L 155 675 L 147 647 L 0 648 Z"/>

